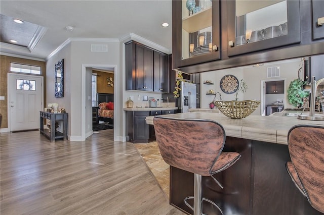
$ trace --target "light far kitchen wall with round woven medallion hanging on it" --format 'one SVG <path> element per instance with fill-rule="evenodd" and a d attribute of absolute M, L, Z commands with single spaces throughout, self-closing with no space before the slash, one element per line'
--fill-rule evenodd
<path fill-rule="evenodd" d="M 271 77 L 267 78 L 267 68 L 268 67 L 275 67 L 280 66 L 280 77 Z M 213 89 L 215 92 L 220 92 L 222 95 L 223 100 L 234 100 L 234 93 L 233 94 L 226 94 L 224 93 L 220 86 L 220 80 L 225 75 L 234 75 L 238 80 L 244 79 L 248 85 L 247 92 L 242 94 L 239 93 L 238 99 L 261 99 L 261 80 L 275 80 L 275 79 L 282 79 L 286 78 L 286 87 L 288 89 L 289 84 L 292 80 L 298 78 L 298 70 L 301 67 L 301 60 L 294 59 L 288 61 L 281 61 L 281 62 L 272 62 L 268 64 L 264 64 L 263 66 L 259 67 L 240 67 L 240 68 L 232 68 L 226 70 L 219 70 L 219 71 L 210 71 L 210 72 L 203 72 L 200 73 L 200 81 L 201 83 L 206 82 L 207 80 L 211 80 L 214 85 L 206 85 L 201 84 L 201 108 L 209 108 L 209 103 L 213 100 L 213 95 L 206 95 L 206 93 Z M 216 98 L 219 99 L 217 96 Z M 287 100 L 287 92 L 285 96 L 286 103 L 285 108 L 293 108 L 291 104 L 289 104 Z M 254 115 L 260 115 L 260 106 L 259 108 L 253 113 Z"/>

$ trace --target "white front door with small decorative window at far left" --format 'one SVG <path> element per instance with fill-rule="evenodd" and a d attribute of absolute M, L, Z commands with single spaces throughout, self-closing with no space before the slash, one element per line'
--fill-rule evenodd
<path fill-rule="evenodd" d="M 10 131 L 39 129 L 43 77 L 12 73 L 8 76 Z"/>

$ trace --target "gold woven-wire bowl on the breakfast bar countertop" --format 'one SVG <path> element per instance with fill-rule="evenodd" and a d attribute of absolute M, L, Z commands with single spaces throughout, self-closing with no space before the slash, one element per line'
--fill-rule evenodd
<path fill-rule="evenodd" d="M 215 105 L 226 117 L 242 119 L 252 114 L 260 105 L 260 101 L 215 101 Z"/>

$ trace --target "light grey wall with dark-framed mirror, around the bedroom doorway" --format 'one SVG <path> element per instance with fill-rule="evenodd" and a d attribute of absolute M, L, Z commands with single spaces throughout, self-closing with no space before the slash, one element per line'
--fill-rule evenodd
<path fill-rule="evenodd" d="M 108 52 L 91 52 L 91 44 L 107 44 Z M 86 93 L 83 93 L 83 90 L 86 90 L 86 86 L 84 86 L 85 89 L 82 89 L 82 81 L 90 77 L 87 78 L 86 73 L 82 77 L 82 65 L 117 65 L 114 72 L 115 76 L 118 77 L 122 75 L 119 69 L 121 65 L 119 53 L 118 39 L 74 38 L 47 61 L 47 103 L 56 102 L 66 109 L 69 119 L 68 135 L 71 141 L 83 140 L 82 137 L 85 136 L 85 134 L 82 134 L 82 125 L 86 125 L 87 119 L 83 119 L 82 109 L 84 108 L 90 112 L 87 115 L 92 115 L 91 102 L 87 102 L 86 107 L 82 105 L 82 99 L 86 99 L 82 98 L 82 96 L 86 96 Z M 64 97 L 55 98 L 54 65 L 61 59 L 64 59 Z M 115 88 L 118 88 L 118 80 L 120 79 L 117 78 L 115 80 L 115 85 L 117 86 Z M 91 78 L 89 82 L 91 83 Z M 119 85 L 122 87 L 120 82 Z M 116 131 L 120 131 L 118 129 L 119 126 L 122 126 L 122 123 L 117 121 L 115 125 Z M 87 131 L 85 130 L 84 132 Z M 120 132 L 118 135 L 123 136 L 123 133 Z"/>

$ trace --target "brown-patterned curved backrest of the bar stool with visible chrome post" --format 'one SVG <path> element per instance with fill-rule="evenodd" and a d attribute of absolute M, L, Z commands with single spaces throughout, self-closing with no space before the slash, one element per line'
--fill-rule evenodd
<path fill-rule="evenodd" d="M 224 128 L 210 120 L 153 119 L 156 142 L 170 166 L 210 176 L 225 144 Z"/>

